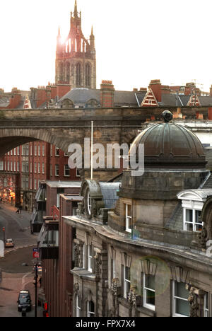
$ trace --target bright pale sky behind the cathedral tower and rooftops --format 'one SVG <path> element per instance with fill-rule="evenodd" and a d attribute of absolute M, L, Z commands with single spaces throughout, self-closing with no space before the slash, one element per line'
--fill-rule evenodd
<path fill-rule="evenodd" d="M 211 0 L 77 0 L 83 35 L 95 35 L 97 88 L 212 84 Z M 69 34 L 74 0 L 1 0 L 0 88 L 54 83 L 58 28 Z"/>

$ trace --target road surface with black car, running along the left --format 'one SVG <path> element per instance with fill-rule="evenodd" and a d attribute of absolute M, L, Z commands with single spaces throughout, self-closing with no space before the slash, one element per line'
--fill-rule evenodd
<path fill-rule="evenodd" d="M 0 317 L 21 317 L 17 300 L 19 291 L 23 289 L 30 291 L 32 311 L 27 313 L 27 317 L 33 317 L 35 315 L 33 248 L 37 246 L 37 235 L 30 233 L 30 214 L 27 211 L 17 214 L 16 208 L 11 205 L 0 204 L 0 240 L 4 237 L 3 227 L 5 238 L 12 238 L 15 246 L 6 248 L 4 257 L 0 257 Z M 37 316 L 41 316 L 41 313 L 41 308 L 38 307 Z"/>

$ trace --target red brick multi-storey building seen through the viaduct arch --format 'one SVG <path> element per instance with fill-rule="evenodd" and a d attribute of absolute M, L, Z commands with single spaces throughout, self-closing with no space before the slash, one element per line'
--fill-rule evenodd
<path fill-rule="evenodd" d="M 76 169 L 69 168 L 68 159 L 63 151 L 45 141 L 32 141 L 16 147 L 0 161 L 1 197 L 17 207 L 33 211 L 41 180 L 79 179 Z"/>

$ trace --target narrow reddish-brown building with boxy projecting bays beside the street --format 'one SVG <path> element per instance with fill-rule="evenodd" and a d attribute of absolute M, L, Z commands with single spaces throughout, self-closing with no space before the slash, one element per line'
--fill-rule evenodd
<path fill-rule="evenodd" d="M 43 208 L 38 237 L 42 291 L 38 299 L 46 303 L 49 316 L 70 317 L 72 312 L 73 276 L 69 270 L 74 267 L 76 232 L 62 216 L 76 215 L 77 204 L 82 200 L 80 189 L 78 181 L 42 181 L 40 195 L 37 194 L 37 213 Z"/>

